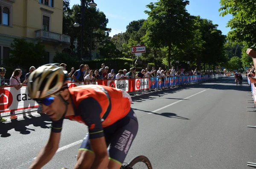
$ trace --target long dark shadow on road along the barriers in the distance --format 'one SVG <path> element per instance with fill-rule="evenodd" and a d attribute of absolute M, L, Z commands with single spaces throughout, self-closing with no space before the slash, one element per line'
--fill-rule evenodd
<path fill-rule="evenodd" d="M 216 84 L 216 83 L 220 83 L 220 84 Z M 233 79 L 233 77 L 224 77 L 221 79 L 211 79 L 205 82 L 198 82 L 198 83 L 188 84 L 188 85 L 180 85 L 179 87 L 171 87 L 168 89 L 156 91 L 154 93 L 145 93 L 143 95 L 132 97 L 132 100 L 135 102 L 146 101 L 146 99 L 153 100 L 155 98 L 160 98 L 170 93 L 176 93 L 182 90 L 192 90 L 193 88 L 205 88 L 205 89 L 211 88 L 216 90 L 250 91 L 250 87 L 247 83 L 246 78 L 243 79 L 242 86 L 240 85 L 236 86 L 235 80 Z M 179 98 L 163 98 L 163 99 L 183 100 Z"/>

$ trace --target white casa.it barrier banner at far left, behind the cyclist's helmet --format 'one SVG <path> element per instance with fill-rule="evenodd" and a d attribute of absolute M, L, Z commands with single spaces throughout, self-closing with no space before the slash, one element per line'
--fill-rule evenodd
<path fill-rule="evenodd" d="M 28 94 L 27 85 L 20 90 L 13 86 L 0 89 L 0 113 L 39 107 Z"/>

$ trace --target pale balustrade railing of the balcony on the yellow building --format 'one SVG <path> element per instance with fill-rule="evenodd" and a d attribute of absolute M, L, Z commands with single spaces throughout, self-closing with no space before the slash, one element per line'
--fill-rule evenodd
<path fill-rule="evenodd" d="M 44 30 L 37 30 L 35 31 L 36 38 L 46 38 L 52 39 L 59 42 L 70 43 L 70 36 L 64 34 L 57 34 L 54 32 L 44 31 Z"/>

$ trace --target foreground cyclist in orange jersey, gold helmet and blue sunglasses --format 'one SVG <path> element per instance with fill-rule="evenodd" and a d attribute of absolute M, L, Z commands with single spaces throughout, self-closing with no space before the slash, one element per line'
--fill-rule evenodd
<path fill-rule="evenodd" d="M 131 96 L 101 85 L 68 88 L 66 74 L 62 67 L 47 64 L 29 76 L 29 96 L 52 119 L 49 140 L 30 169 L 43 167 L 55 155 L 64 118 L 86 124 L 89 130 L 79 149 L 75 169 L 120 169 L 138 130 Z"/>

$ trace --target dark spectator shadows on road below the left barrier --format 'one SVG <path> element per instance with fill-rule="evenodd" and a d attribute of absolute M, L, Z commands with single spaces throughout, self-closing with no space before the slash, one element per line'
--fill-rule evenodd
<path fill-rule="evenodd" d="M 52 124 L 50 118 L 46 114 L 41 114 L 41 116 L 30 116 L 31 118 L 24 118 L 21 120 L 12 120 L 7 123 L 0 123 L 0 135 L 1 137 L 9 137 L 11 134 L 8 133 L 9 130 L 14 129 L 20 134 L 26 135 L 31 131 L 35 131 L 34 129 L 30 129 L 26 126 L 33 124 L 35 127 L 41 127 L 44 129 L 49 129 L 50 127 L 47 124 Z M 49 121 L 49 122 L 46 122 Z"/>

